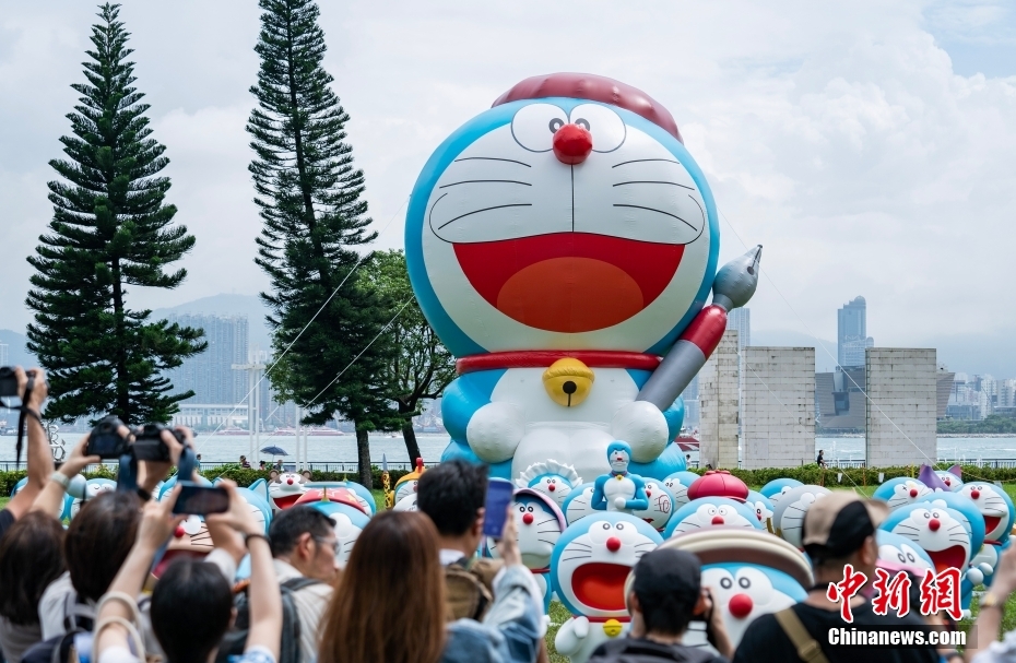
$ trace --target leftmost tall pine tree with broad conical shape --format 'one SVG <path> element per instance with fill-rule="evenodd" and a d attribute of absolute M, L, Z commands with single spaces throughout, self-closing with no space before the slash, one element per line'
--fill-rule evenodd
<path fill-rule="evenodd" d="M 149 321 L 151 311 L 127 307 L 127 286 L 174 288 L 186 270 L 166 268 L 194 238 L 172 225 L 176 206 L 164 204 L 169 159 L 151 138 L 144 95 L 133 87 L 127 58 L 130 33 L 119 5 L 99 8 L 92 26 L 86 83 L 60 139 L 67 159 L 49 165 L 54 205 L 49 233 L 28 262 L 36 269 L 26 304 L 35 311 L 28 350 L 49 378 L 46 415 L 72 421 L 111 413 L 129 424 L 167 422 L 193 392 L 169 394 L 163 371 L 203 351 L 201 330 Z"/>

